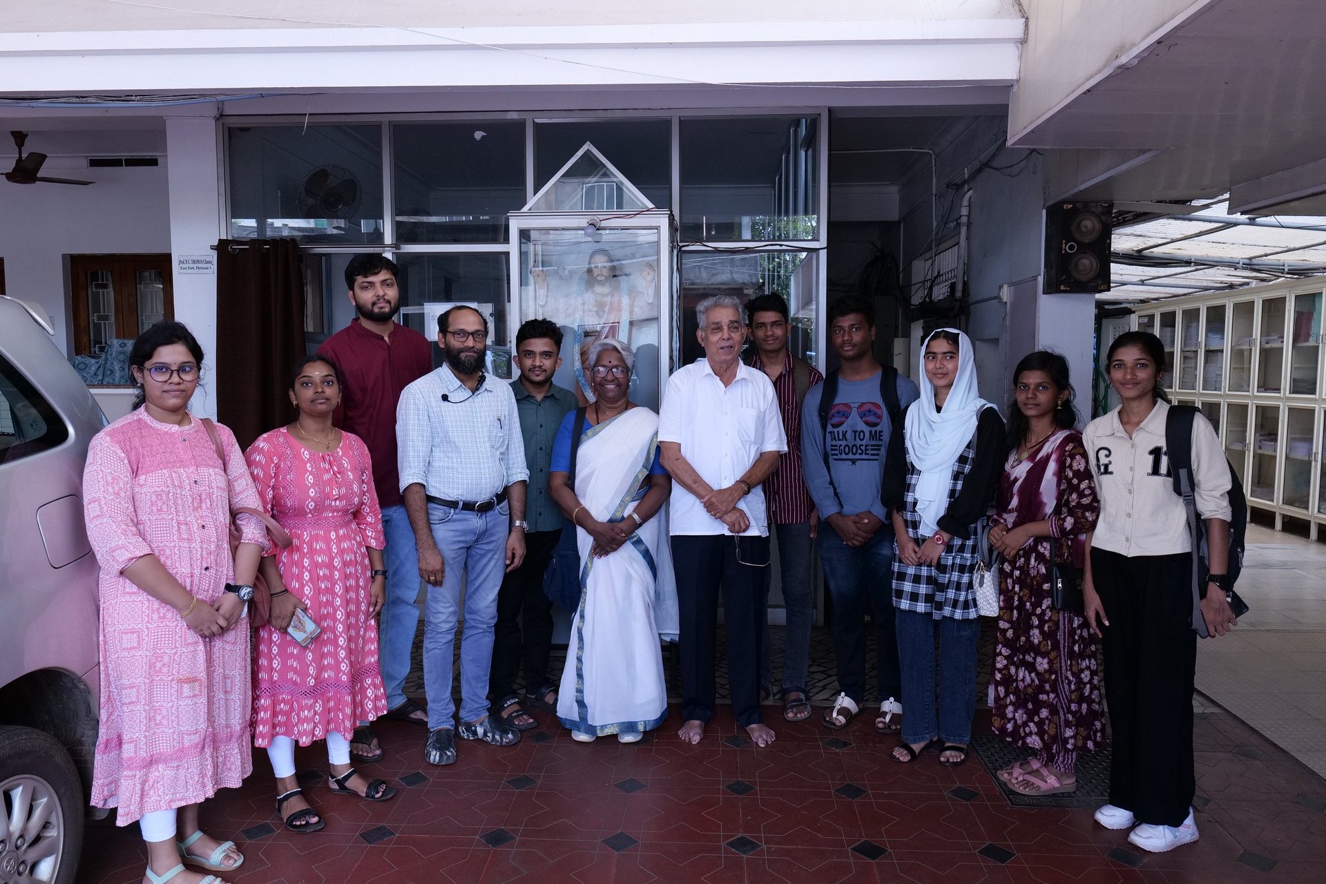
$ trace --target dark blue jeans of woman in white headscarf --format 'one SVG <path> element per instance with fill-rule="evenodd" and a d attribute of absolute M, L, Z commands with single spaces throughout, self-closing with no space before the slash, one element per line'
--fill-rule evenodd
<path fill-rule="evenodd" d="M 903 671 L 903 741 L 965 746 L 976 713 L 976 637 L 981 623 L 939 619 L 939 722 L 935 721 L 935 619 L 898 611 L 898 657 Z"/>

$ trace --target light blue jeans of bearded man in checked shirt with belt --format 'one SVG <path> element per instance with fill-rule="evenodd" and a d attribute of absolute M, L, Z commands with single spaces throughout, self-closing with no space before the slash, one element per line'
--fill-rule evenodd
<path fill-rule="evenodd" d="M 460 717 L 488 714 L 488 669 L 493 657 L 497 591 L 507 571 L 507 504 L 472 513 L 428 504 L 428 527 L 446 574 L 428 587 L 423 630 L 423 687 L 428 694 L 428 730 L 455 726 L 451 697 L 452 648 L 460 620 L 460 583 L 465 583 L 465 627 L 460 635 Z"/>

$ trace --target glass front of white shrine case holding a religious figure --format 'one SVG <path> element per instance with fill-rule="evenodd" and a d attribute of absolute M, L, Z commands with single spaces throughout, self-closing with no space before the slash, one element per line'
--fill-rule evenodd
<path fill-rule="evenodd" d="M 603 227 L 601 241 L 583 231 L 522 231 L 521 319 L 552 319 L 562 329 L 562 366 L 553 380 L 590 402 L 589 347 L 598 338 L 635 351 L 631 402 L 659 406 L 659 235 Z"/>

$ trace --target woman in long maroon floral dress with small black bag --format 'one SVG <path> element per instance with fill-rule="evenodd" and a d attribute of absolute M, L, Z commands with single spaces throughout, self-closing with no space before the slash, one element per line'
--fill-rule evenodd
<path fill-rule="evenodd" d="M 1099 502 L 1063 357 L 1044 350 L 1013 372 L 1010 452 L 1004 464 L 991 543 L 1000 565 L 994 649 L 994 733 L 1034 749 L 998 771 L 1028 795 L 1077 789 L 1077 754 L 1105 742 L 1097 639 L 1081 612 L 1058 611 L 1052 563 L 1081 569 Z"/>

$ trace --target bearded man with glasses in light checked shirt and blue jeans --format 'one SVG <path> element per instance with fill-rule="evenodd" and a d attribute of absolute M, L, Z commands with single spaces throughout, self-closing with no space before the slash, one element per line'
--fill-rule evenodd
<path fill-rule="evenodd" d="M 440 368 L 404 388 L 396 406 L 400 492 L 419 550 L 419 577 L 430 584 L 424 607 L 423 685 L 428 694 L 432 765 L 456 761 L 452 740 L 452 643 L 465 579 L 460 636 L 463 740 L 509 746 L 520 733 L 488 714 L 497 590 L 525 558 L 525 444 L 516 396 L 505 380 L 484 375 L 488 319 L 456 306 L 438 318 Z"/>

